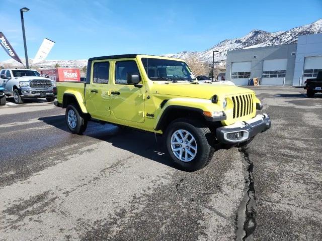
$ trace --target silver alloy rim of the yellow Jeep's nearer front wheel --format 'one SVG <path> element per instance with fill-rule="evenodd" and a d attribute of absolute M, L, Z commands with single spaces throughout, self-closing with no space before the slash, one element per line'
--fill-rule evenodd
<path fill-rule="evenodd" d="M 177 130 L 171 136 L 172 153 L 182 162 L 191 162 L 197 155 L 197 142 L 186 130 Z"/>

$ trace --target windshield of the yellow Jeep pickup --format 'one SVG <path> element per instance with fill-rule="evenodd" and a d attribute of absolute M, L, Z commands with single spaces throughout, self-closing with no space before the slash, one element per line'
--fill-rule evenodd
<path fill-rule="evenodd" d="M 168 59 L 142 58 L 145 72 L 151 80 L 195 80 L 185 62 Z"/>

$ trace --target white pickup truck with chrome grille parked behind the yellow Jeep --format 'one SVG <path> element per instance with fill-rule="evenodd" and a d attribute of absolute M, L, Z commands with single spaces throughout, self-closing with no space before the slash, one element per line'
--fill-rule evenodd
<path fill-rule="evenodd" d="M 53 88 L 56 82 L 44 78 L 32 69 L 2 69 L 0 71 L 0 86 L 5 88 L 7 96 L 14 96 L 16 104 L 23 103 L 26 98 L 46 98 L 54 101 Z"/>

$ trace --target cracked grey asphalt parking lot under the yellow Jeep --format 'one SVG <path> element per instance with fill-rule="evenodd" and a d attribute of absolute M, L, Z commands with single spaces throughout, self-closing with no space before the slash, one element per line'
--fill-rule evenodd
<path fill-rule="evenodd" d="M 1 240 L 320 240 L 322 94 L 252 87 L 272 128 L 204 169 L 172 166 L 163 139 L 64 109 L 0 107 Z M 261 112 L 261 111 L 260 111 Z"/>

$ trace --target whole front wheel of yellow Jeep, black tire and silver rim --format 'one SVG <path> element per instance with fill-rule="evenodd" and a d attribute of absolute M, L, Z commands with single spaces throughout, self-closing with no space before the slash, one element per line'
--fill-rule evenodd
<path fill-rule="evenodd" d="M 171 158 L 180 169 L 193 172 L 211 161 L 214 148 L 209 144 L 214 138 L 202 122 L 178 119 L 166 132 L 166 145 Z"/>

